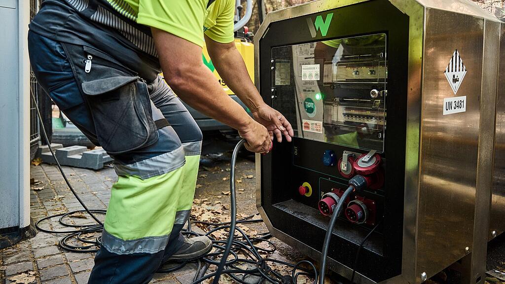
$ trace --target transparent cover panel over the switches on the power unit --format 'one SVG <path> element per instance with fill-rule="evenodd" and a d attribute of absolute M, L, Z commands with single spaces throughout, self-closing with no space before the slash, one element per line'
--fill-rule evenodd
<path fill-rule="evenodd" d="M 281 46 L 272 59 L 272 104 L 296 136 L 384 151 L 385 34 Z"/>

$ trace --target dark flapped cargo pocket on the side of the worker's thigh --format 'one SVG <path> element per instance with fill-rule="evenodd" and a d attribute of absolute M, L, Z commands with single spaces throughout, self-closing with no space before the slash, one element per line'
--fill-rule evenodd
<path fill-rule="evenodd" d="M 138 77 L 116 76 L 81 84 L 93 117 L 98 143 L 120 154 L 156 143 L 147 86 Z"/>

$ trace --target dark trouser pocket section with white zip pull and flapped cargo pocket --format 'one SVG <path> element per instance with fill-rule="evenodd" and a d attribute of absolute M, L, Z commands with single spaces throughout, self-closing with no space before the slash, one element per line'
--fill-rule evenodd
<path fill-rule="evenodd" d="M 98 143 L 109 154 L 150 146 L 158 140 L 145 82 L 111 58 L 64 44 L 83 92 Z"/>

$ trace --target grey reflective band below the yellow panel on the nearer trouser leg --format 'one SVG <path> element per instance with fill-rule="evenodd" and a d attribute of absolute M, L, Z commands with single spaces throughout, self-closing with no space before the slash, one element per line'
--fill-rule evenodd
<path fill-rule="evenodd" d="M 155 254 L 167 246 L 169 235 L 147 236 L 146 238 L 124 241 L 108 233 L 102 232 L 102 246 L 115 254 Z"/>

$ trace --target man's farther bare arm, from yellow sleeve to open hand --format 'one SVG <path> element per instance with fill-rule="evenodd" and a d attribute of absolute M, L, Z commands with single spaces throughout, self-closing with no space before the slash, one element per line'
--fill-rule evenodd
<path fill-rule="evenodd" d="M 284 116 L 263 101 L 260 93 L 252 83 L 242 56 L 235 47 L 235 42 L 220 43 L 205 36 L 207 51 L 221 78 L 230 89 L 249 108 L 254 118 L 273 131 L 277 140 L 291 141 L 293 129 Z"/>

